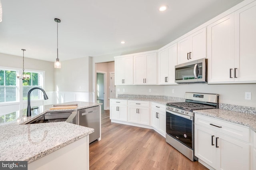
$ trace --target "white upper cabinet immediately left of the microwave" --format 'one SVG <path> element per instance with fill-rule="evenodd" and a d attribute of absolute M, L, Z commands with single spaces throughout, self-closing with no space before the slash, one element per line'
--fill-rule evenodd
<path fill-rule="evenodd" d="M 175 83 L 177 43 L 158 51 L 158 84 Z"/>

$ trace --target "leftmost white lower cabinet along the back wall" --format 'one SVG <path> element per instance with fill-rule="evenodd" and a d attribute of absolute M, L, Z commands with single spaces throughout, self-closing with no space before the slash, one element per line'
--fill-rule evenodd
<path fill-rule="evenodd" d="M 127 121 L 127 100 L 110 99 L 110 119 Z"/>

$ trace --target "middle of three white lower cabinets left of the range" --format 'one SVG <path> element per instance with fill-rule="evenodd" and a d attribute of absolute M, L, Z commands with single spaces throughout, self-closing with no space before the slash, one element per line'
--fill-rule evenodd
<path fill-rule="evenodd" d="M 149 102 L 128 101 L 128 122 L 150 125 Z"/>

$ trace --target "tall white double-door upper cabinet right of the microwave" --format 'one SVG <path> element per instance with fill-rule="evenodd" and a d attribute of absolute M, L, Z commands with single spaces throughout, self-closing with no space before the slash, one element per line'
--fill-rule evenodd
<path fill-rule="evenodd" d="M 209 83 L 255 83 L 256 2 L 207 27 Z"/>

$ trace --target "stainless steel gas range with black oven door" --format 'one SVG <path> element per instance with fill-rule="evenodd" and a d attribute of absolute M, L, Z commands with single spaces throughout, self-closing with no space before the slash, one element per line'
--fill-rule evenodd
<path fill-rule="evenodd" d="M 166 142 L 194 161 L 194 110 L 216 109 L 218 94 L 185 93 L 185 102 L 166 103 Z"/>

